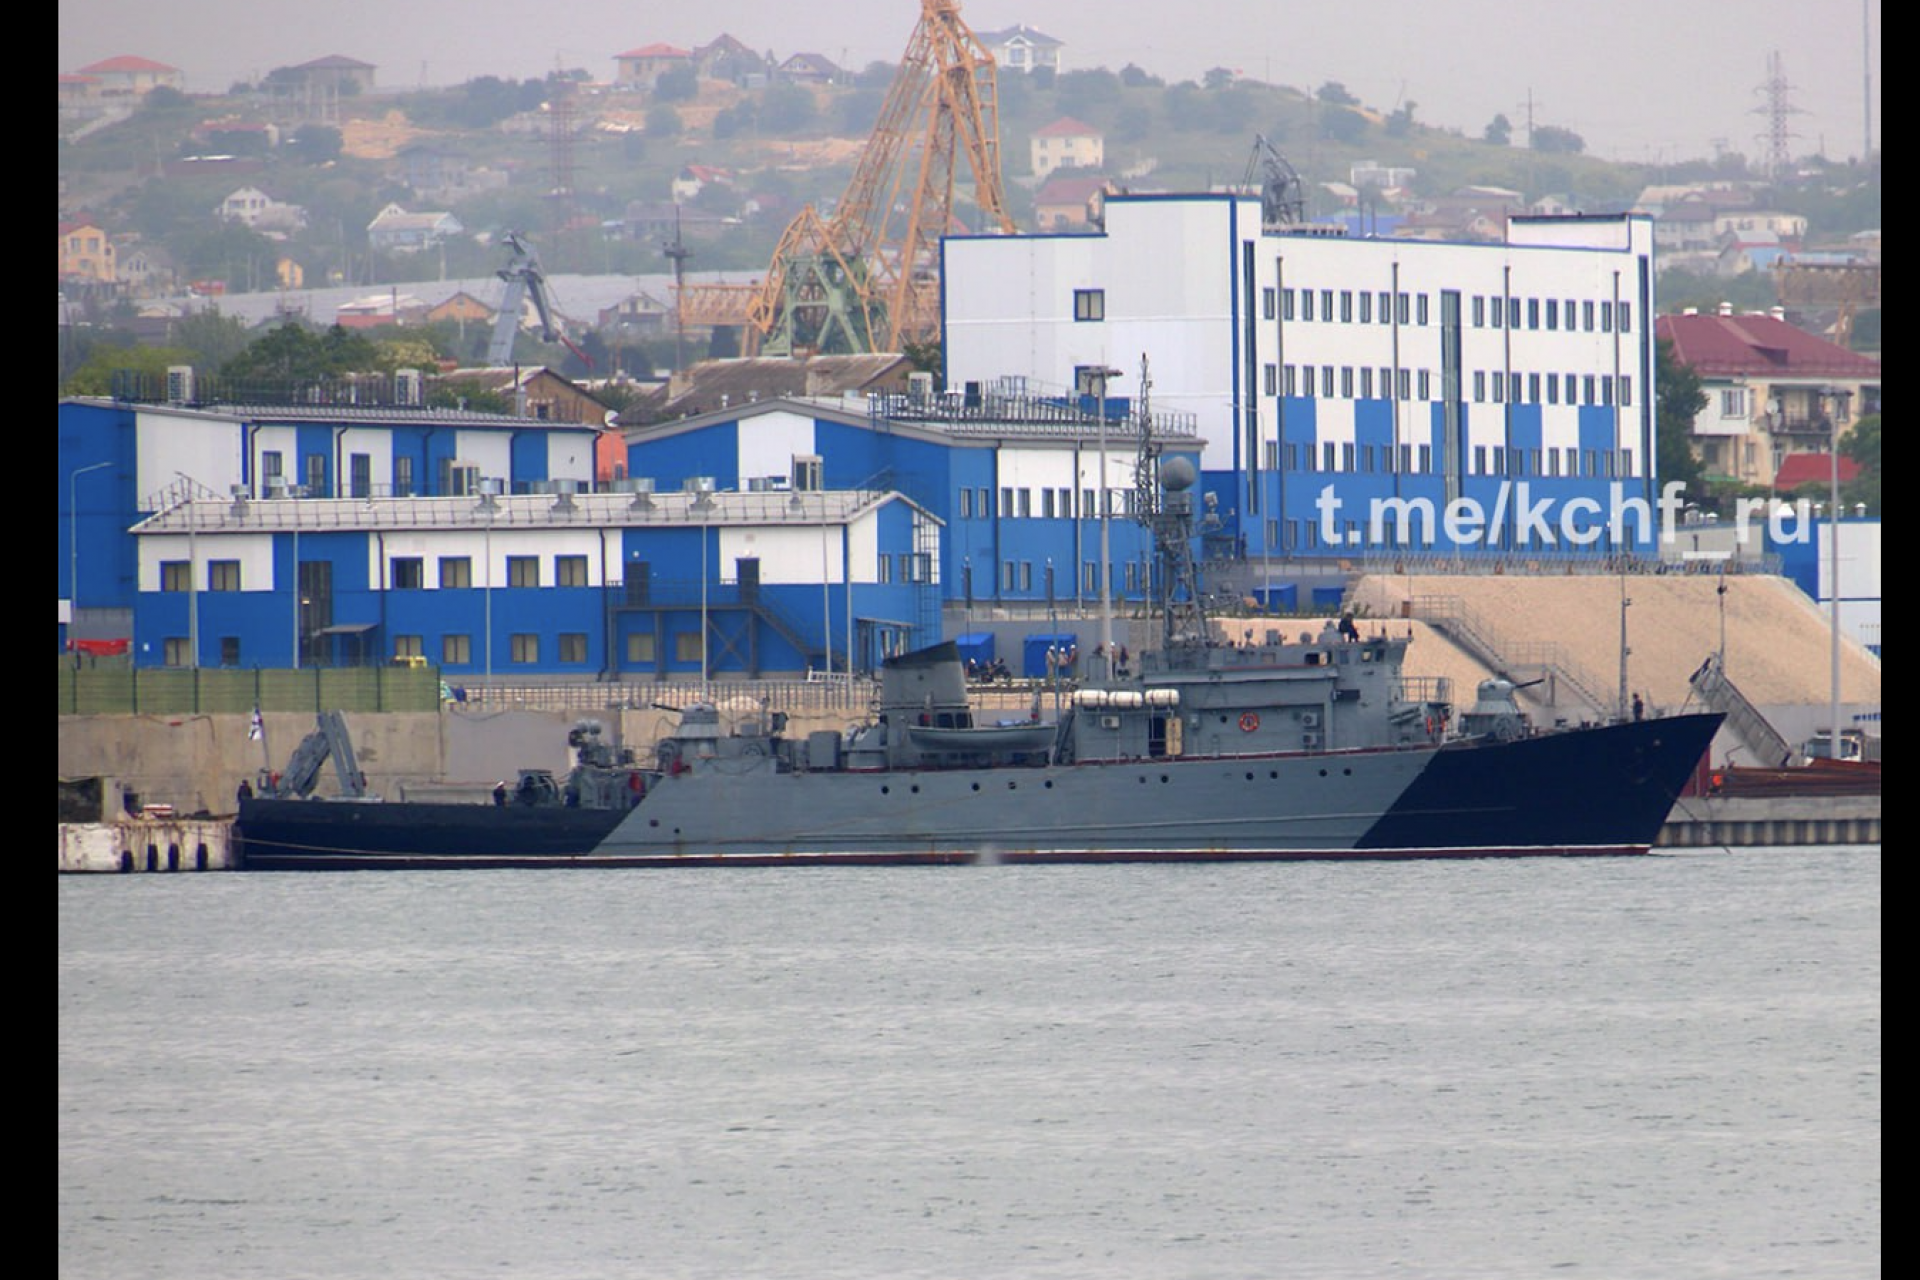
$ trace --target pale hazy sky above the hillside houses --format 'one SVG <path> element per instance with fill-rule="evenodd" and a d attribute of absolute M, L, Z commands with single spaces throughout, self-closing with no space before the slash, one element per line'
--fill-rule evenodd
<path fill-rule="evenodd" d="M 1478 136 L 1494 115 L 1571 129 L 1605 159 L 1766 154 L 1768 58 L 1789 84 L 1795 155 L 1880 144 L 1880 0 L 964 0 L 975 31 L 1027 23 L 1066 42 L 1066 65 L 1164 79 L 1210 67 L 1315 88 L 1338 81 L 1367 106 L 1415 104 L 1425 125 Z M 528 79 L 614 54 L 732 35 L 776 58 L 816 52 L 851 67 L 899 61 L 918 0 L 60 0 L 60 71 L 138 54 L 186 73 L 188 92 L 326 54 L 376 67 L 384 86 Z"/>

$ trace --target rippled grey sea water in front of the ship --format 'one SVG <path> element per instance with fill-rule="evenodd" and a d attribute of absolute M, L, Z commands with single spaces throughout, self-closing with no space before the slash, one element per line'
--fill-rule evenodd
<path fill-rule="evenodd" d="M 1880 850 L 60 879 L 60 1274 L 1880 1272 Z"/>

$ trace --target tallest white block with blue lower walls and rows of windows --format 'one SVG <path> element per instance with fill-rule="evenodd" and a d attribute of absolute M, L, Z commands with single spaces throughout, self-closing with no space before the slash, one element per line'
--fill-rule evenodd
<path fill-rule="evenodd" d="M 1653 551 L 1647 217 L 1444 244 L 1114 196 L 1098 234 L 948 238 L 943 278 L 954 386 L 1144 368 L 1204 441 L 1227 557 Z"/>

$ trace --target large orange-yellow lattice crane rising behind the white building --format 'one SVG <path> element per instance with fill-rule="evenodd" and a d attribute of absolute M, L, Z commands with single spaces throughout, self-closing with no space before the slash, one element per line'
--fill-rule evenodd
<path fill-rule="evenodd" d="M 958 0 L 920 0 L 874 134 L 831 217 L 787 225 L 749 320 L 768 353 L 899 351 L 939 336 L 939 242 L 960 165 L 983 223 L 1014 230 L 1000 184 L 993 54 Z"/>

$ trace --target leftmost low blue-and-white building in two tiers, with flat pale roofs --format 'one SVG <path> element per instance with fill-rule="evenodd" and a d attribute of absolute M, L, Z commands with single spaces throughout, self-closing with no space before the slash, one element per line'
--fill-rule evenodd
<path fill-rule="evenodd" d="M 61 401 L 61 647 L 666 679 L 847 670 L 937 633 L 941 526 L 902 495 L 593 491 L 597 439 L 407 405 Z"/>

